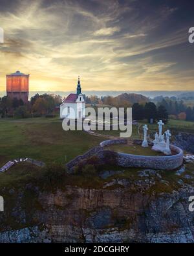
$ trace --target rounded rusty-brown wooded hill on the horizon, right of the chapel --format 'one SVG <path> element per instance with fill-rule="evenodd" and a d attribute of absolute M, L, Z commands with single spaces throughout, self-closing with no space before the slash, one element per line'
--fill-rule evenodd
<path fill-rule="evenodd" d="M 144 95 L 141 94 L 136 94 L 136 93 L 122 93 L 121 95 L 118 95 L 116 97 L 114 97 L 114 99 L 122 102 L 124 100 L 127 100 L 129 102 L 131 102 L 131 104 L 133 103 L 144 103 L 144 102 L 148 102 L 149 98 L 147 98 Z"/>

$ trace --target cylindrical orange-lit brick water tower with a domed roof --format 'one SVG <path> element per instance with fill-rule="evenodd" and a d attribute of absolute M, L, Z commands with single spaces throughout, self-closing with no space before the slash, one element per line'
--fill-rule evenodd
<path fill-rule="evenodd" d="M 19 71 L 6 75 L 6 95 L 11 99 L 22 99 L 24 103 L 28 102 L 29 76 Z"/>

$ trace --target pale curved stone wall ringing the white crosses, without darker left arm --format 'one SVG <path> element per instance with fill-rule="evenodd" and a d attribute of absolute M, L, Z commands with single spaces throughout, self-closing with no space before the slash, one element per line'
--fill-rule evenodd
<path fill-rule="evenodd" d="M 125 144 L 126 139 L 110 139 L 103 141 L 100 146 L 107 146 L 113 144 Z M 173 156 L 138 156 L 133 154 L 125 154 L 117 152 L 117 163 L 122 167 L 138 167 L 146 169 L 160 169 L 160 170 L 173 170 L 182 165 L 183 151 L 178 146 L 170 145 L 171 150 L 177 152 Z M 111 150 L 103 150 L 111 151 Z M 115 152 L 114 152 L 115 153 Z"/>

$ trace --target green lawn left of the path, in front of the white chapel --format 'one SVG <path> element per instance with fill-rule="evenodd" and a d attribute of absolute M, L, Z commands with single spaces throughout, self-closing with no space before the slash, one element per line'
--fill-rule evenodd
<path fill-rule="evenodd" d="M 64 164 L 97 146 L 103 138 L 65 132 L 58 118 L 1 119 L 0 166 L 18 157 Z"/>

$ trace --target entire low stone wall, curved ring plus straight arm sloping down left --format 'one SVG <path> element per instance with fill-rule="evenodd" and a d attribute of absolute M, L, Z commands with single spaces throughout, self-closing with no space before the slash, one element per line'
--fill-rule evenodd
<path fill-rule="evenodd" d="M 69 172 L 81 161 L 86 161 L 89 157 L 96 155 L 99 158 L 99 163 L 118 165 L 122 167 L 136 167 L 144 169 L 156 170 L 173 170 L 182 165 L 183 151 L 178 146 L 170 145 L 171 150 L 177 152 L 173 156 L 139 156 L 133 154 L 125 154 L 121 152 L 114 152 L 112 150 L 105 150 L 104 146 L 114 144 L 127 144 L 127 139 L 109 139 L 102 141 L 100 146 L 94 146 L 82 156 L 77 156 L 67 163 Z"/>

